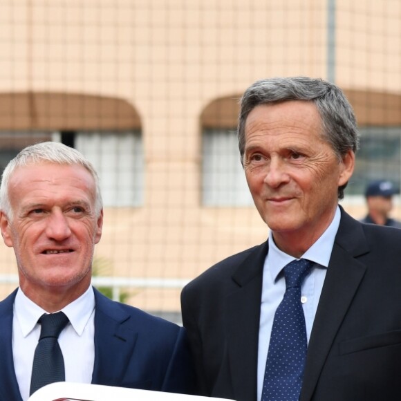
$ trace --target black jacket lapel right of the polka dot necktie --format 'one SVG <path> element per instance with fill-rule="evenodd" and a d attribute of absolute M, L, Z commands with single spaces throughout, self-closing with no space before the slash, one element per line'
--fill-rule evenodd
<path fill-rule="evenodd" d="M 355 257 L 366 252 L 369 252 L 369 248 L 364 240 L 362 226 L 342 210 L 341 223 L 308 344 L 301 401 L 312 398 L 335 335 L 366 271 L 364 264 Z"/>

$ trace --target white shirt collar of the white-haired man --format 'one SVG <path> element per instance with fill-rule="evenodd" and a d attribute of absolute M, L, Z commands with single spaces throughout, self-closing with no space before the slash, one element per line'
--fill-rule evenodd
<path fill-rule="evenodd" d="M 82 335 L 93 310 L 95 310 L 95 295 L 91 286 L 78 299 L 62 309 L 77 335 Z M 24 337 L 35 328 L 39 317 L 44 313 L 47 313 L 46 310 L 31 301 L 21 288 L 18 288 L 14 301 L 14 316 Z"/>

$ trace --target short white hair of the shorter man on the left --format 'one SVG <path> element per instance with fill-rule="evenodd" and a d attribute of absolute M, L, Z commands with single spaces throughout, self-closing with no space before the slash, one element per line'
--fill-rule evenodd
<path fill-rule="evenodd" d="M 95 214 L 99 215 L 103 207 L 102 194 L 97 172 L 92 163 L 86 160 L 82 153 L 59 142 L 41 142 L 22 149 L 15 158 L 10 160 L 1 176 L 0 209 L 12 220 L 12 207 L 8 195 L 8 183 L 18 167 L 26 167 L 41 162 L 50 162 L 58 165 L 82 165 L 89 171 L 96 185 Z"/>

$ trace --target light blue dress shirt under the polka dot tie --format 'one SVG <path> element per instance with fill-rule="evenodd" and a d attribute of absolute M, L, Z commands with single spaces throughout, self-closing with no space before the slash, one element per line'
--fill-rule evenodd
<path fill-rule="evenodd" d="M 302 255 L 302 258 L 315 262 L 310 274 L 301 286 L 301 302 L 304 308 L 306 335 L 308 341 L 315 319 L 317 304 L 323 288 L 328 262 L 333 250 L 335 235 L 339 227 L 339 207 L 335 212 L 333 221 L 321 234 L 320 238 Z M 263 267 L 263 284 L 261 299 L 261 318 L 259 324 L 258 346 L 258 400 L 261 400 L 263 380 L 265 377 L 266 359 L 270 343 L 274 313 L 286 292 L 286 279 L 281 273 L 283 267 L 295 260 L 275 245 L 272 232 L 269 234 L 269 251 Z M 280 274 L 281 273 L 281 274 Z"/>

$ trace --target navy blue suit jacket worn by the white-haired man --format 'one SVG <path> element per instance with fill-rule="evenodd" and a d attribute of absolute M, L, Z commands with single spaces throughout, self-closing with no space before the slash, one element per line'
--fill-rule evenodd
<path fill-rule="evenodd" d="M 94 291 L 92 383 L 192 393 L 192 362 L 185 329 Z M 22 400 L 12 357 L 12 310 L 16 293 L 17 290 L 0 302 L 1 401 Z"/>

